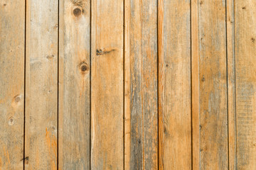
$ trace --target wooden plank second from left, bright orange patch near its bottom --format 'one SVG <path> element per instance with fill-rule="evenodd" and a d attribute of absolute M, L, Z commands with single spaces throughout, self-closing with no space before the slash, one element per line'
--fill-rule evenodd
<path fill-rule="evenodd" d="M 26 1 L 25 169 L 57 169 L 58 1 Z"/>

